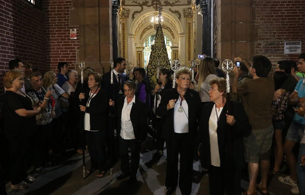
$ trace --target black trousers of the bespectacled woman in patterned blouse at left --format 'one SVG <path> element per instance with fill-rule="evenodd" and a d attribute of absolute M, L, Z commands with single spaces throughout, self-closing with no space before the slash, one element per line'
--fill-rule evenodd
<path fill-rule="evenodd" d="M 48 140 L 50 139 L 51 123 L 45 125 L 37 125 L 34 133 L 34 168 L 44 167 L 48 162 Z"/>

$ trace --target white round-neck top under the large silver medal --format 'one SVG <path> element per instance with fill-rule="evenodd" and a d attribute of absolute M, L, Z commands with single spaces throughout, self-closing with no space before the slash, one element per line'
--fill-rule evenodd
<path fill-rule="evenodd" d="M 174 108 L 174 132 L 175 133 L 188 133 L 188 103 L 182 101 L 183 112 L 178 112 L 180 107 L 180 97 L 176 101 Z"/>

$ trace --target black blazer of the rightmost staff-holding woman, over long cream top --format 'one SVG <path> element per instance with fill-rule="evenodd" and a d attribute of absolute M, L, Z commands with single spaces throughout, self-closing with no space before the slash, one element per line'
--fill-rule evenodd
<path fill-rule="evenodd" d="M 218 139 L 218 149 L 220 156 L 220 166 L 224 168 L 237 168 L 243 167 L 245 164 L 245 156 L 243 149 L 243 137 L 249 136 L 252 131 L 252 127 L 249 123 L 248 116 L 242 105 L 239 102 L 231 102 L 232 116 L 235 118 L 235 125 L 230 126 L 227 123 L 227 103 L 222 109 L 218 127 L 217 127 L 217 139 Z M 201 166 L 203 168 L 209 169 L 211 164 L 211 152 L 210 152 L 210 134 L 209 134 L 209 120 L 212 109 L 214 109 L 214 102 L 209 102 L 203 106 L 201 120 L 199 123 L 199 134 L 198 139 L 201 141 L 201 147 L 199 148 L 201 157 Z M 235 167 L 229 167 L 229 127 L 232 136 L 232 156 L 233 165 Z"/>

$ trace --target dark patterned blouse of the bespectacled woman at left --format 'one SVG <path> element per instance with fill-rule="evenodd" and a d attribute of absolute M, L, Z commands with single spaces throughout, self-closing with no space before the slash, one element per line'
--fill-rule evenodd
<path fill-rule="evenodd" d="M 38 101 L 42 103 L 43 98 L 45 97 L 45 90 L 41 88 L 41 91 L 39 92 L 31 88 L 29 92 L 27 92 L 27 95 L 30 96 L 35 103 Z M 51 112 L 52 112 L 52 105 L 50 98 L 45 107 L 45 110 L 41 112 L 42 117 L 38 121 L 36 121 L 36 124 L 45 125 L 50 123 L 52 121 Z"/>

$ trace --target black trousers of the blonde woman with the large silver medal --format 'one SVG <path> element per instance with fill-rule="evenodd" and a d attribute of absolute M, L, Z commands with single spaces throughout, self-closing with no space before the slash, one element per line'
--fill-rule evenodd
<path fill-rule="evenodd" d="M 191 194 L 193 173 L 193 142 L 189 133 L 174 133 L 167 143 L 167 166 L 165 186 L 178 185 L 178 155 L 180 153 L 179 188 L 181 194 Z"/>

